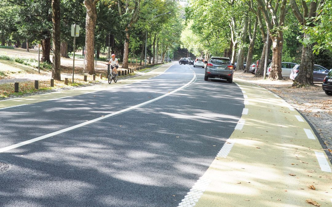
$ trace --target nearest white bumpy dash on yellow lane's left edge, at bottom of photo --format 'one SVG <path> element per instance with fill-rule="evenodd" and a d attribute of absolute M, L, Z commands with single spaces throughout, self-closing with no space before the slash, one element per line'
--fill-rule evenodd
<path fill-rule="evenodd" d="M 210 182 L 209 179 L 201 177 L 185 195 L 185 198 L 181 200 L 182 202 L 179 203 L 178 207 L 195 206 Z"/>

